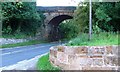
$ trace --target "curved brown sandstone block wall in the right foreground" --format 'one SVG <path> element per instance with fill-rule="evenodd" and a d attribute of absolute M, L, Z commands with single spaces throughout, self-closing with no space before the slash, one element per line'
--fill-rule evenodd
<path fill-rule="evenodd" d="M 64 70 L 116 70 L 118 46 L 54 46 L 49 59 Z"/>

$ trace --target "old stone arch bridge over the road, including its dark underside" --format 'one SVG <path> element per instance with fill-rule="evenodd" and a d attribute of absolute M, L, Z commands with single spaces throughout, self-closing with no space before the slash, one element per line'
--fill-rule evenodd
<path fill-rule="evenodd" d="M 58 41 L 61 39 L 59 30 L 59 24 L 67 19 L 72 19 L 75 6 L 53 6 L 53 7 L 41 7 L 37 6 L 37 9 L 42 11 L 46 16 L 44 20 L 44 26 L 41 37 L 42 39 L 49 41 Z"/>

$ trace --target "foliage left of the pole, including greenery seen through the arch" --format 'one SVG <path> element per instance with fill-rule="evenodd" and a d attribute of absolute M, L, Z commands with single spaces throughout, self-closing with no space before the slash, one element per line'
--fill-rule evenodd
<path fill-rule="evenodd" d="M 89 7 L 88 3 L 81 3 L 74 12 L 73 19 L 60 24 L 60 32 L 63 38 L 71 39 L 81 32 L 88 31 Z M 86 6 L 84 6 L 84 4 Z"/>

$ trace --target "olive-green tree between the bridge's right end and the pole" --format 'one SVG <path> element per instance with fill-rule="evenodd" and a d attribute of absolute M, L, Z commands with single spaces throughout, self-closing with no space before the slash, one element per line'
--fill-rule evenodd
<path fill-rule="evenodd" d="M 79 32 L 84 32 L 88 27 L 89 22 L 89 7 L 88 3 L 81 3 L 82 6 L 78 5 L 74 12 L 73 23 L 79 27 Z M 86 6 L 84 6 L 85 4 Z"/>

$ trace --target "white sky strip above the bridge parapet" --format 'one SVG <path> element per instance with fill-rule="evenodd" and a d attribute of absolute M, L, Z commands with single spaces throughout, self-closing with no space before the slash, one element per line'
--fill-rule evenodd
<path fill-rule="evenodd" d="M 36 0 L 37 6 L 77 6 L 80 0 Z"/>

